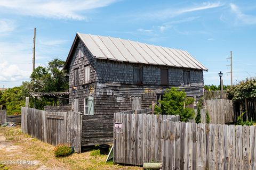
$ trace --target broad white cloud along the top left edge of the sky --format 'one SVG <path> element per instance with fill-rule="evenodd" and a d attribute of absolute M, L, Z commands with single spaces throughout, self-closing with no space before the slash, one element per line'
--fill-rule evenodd
<path fill-rule="evenodd" d="M 94 8 L 108 6 L 117 0 L 1 0 L 0 8 L 5 8 L 12 13 L 21 15 L 54 18 L 86 20 L 82 15 Z"/>

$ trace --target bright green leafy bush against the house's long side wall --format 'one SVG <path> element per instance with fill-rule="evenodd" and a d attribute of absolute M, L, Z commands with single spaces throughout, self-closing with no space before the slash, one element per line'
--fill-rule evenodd
<path fill-rule="evenodd" d="M 182 122 L 187 122 L 194 118 L 194 109 L 184 107 L 194 103 L 194 98 L 187 97 L 184 91 L 178 88 L 167 89 L 163 95 L 163 100 L 159 100 L 161 106 L 155 106 L 156 114 L 180 115 Z"/>

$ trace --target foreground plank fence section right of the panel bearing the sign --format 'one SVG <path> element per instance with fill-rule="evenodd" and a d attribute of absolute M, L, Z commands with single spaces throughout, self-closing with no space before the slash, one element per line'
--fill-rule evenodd
<path fill-rule="evenodd" d="M 256 126 L 163 126 L 163 169 L 256 169 Z"/>

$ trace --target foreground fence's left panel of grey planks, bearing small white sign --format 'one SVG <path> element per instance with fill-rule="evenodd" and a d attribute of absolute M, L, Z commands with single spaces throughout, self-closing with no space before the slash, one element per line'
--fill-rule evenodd
<path fill-rule="evenodd" d="M 122 129 L 114 129 L 114 162 L 132 165 L 161 162 L 162 122 L 179 120 L 179 115 L 115 113 L 114 122 L 122 123 Z"/>

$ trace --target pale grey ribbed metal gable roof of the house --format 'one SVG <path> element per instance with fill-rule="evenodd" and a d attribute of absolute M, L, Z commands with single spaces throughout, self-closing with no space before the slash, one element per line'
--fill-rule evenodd
<path fill-rule="evenodd" d="M 135 41 L 77 33 L 70 49 L 64 69 L 66 69 L 77 38 L 81 39 L 95 58 L 130 63 L 167 65 L 206 70 L 185 50 L 148 45 Z"/>

